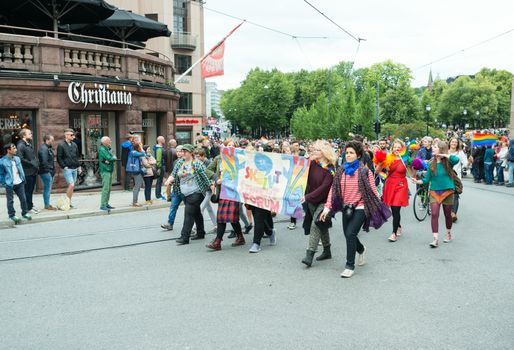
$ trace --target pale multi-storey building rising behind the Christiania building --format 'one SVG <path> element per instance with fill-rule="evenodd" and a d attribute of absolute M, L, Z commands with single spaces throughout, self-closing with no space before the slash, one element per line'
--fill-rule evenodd
<path fill-rule="evenodd" d="M 111 4 L 168 25 L 170 38 L 154 38 L 146 47 L 162 52 L 174 64 L 176 77 L 204 55 L 204 10 L 199 0 L 110 0 Z M 177 82 L 175 137 L 179 144 L 192 143 L 207 125 L 205 85 L 201 66 Z"/>

